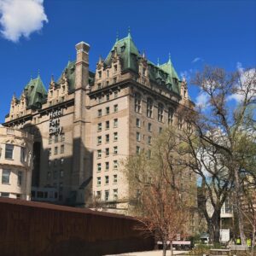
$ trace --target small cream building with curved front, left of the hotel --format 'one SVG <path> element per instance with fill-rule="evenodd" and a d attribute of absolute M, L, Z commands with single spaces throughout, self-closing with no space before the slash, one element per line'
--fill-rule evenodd
<path fill-rule="evenodd" d="M 32 135 L 0 126 L 0 196 L 31 199 Z"/>

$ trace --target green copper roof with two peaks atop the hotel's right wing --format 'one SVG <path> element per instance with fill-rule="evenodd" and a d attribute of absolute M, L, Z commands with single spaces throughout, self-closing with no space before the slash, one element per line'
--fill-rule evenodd
<path fill-rule="evenodd" d="M 106 60 L 106 66 L 111 66 L 112 56 L 117 53 L 121 60 L 122 70 L 132 70 L 138 73 L 139 60 L 143 58 L 133 43 L 130 32 L 126 38 L 117 39 L 113 48 L 109 52 Z M 162 65 L 155 65 L 153 62 L 148 61 L 148 76 L 149 79 L 154 80 L 158 84 L 165 85 L 169 90 L 180 94 L 181 81 L 177 76 L 177 72 L 172 65 L 171 58 L 169 61 Z"/>

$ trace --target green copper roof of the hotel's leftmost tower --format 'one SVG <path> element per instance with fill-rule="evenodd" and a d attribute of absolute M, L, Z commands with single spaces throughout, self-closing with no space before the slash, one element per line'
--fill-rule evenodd
<path fill-rule="evenodd" d="M 41 108 L 47 99 L 47 91 L 39 75 L 26 84 L 24 91 L 28 108 Z"/>

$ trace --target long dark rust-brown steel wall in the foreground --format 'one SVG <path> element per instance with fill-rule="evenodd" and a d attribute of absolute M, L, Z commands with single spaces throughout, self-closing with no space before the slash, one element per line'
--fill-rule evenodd
<path fill-rule="evenodd" d="M 0 198 L 1 256 L 79 256 L 150 250 L 123 215 Z"/>

